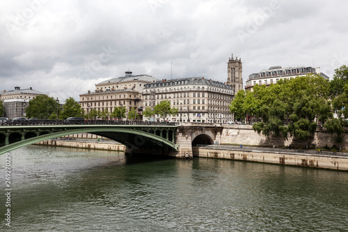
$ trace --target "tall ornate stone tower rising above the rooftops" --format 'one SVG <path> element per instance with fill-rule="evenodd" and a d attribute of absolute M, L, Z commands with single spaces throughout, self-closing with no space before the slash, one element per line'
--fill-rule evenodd
<path fill-rule="evenodd" d="M 241 89 L 243 89 L 243 77 L 242 77 L 242 61 L 241 59 L 233 59 L 233 54 L 227 63 L 227 84 L 232 86 L 232 90 L 235 95 Z"/>

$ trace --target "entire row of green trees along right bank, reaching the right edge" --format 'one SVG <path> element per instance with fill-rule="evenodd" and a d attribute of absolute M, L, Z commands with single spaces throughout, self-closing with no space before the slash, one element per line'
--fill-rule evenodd
<path fill-rule="evenodd" d="M 340 144 L 348 118 L 348 68 L 335 70 L 333 80 L 319 75 L 280 79 L 266 87 L 256 84 L 253 91 L 241 90 L 230 104 L 237 120 L 253 123 L 253 130 L 267 137 L 313 136 L 324 125 Z"/>

